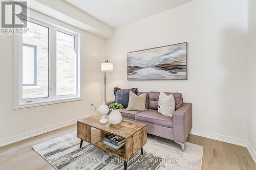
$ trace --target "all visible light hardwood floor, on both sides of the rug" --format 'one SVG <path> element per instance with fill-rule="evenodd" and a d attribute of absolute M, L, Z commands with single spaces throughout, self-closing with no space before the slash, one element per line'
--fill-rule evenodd
<path fill-rule="evenodd" d="M 1 147 L 0 169 L 54 170 L 54 167 L 33 151 L 32 145 L 75 130 L 76 125 L 71 125 Z M 202 169 L 256 169 L 249 152 L 244 147 L 195 135 L 190 135 L 187 141 L 204 146 Z"/>

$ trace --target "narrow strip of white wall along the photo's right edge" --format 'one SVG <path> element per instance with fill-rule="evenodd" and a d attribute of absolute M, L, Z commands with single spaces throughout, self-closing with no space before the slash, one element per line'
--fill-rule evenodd
<path fill-rule="evenodd" d="M 253 107 L 256 101 L 256 1 L 248 1 L 248 47 L 249 47 L 249 104 L 248 104 L 248 141 L 254 150 L 256 159 L 256 110 Z"/>

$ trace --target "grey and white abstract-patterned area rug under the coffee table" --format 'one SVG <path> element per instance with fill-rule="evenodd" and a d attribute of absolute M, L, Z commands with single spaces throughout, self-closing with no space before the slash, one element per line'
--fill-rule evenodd
<path fill-rule="evenodd" d="M 80 139 L 76 137 L 76 132 L 72 132 L 35 144 L 33 149 L 56 169 L 123 169 L 121 159 L 86 141 L 83 141 L 81 149 L 79 144 Z M 201 169 L 203 147 L 197 144 L 186 142 L 185 151 L 182 152 L 180 145 L 172 140 L 147 135 L 143 150 L 143 156 L 138 151 L 127 162 L 127 169 Z"/>

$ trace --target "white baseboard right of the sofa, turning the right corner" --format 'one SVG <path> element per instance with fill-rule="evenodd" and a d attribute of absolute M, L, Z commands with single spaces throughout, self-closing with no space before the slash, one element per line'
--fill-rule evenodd
<path fill-rule="evenodd" d="M 214 139 L 214 140 L 219 140 L 219 141 L 223 141 L 223 142 L 227 142 L 227 143 L 231 143 L 231 144 L 236 144 L 241 147 L 245 147 L 249 151 L 254 163 L 256 163 L 256 153 L 247 140 L 238 139 L 238 138 L 234 138 L 234 137 L 228 137 L 228 136 L 219 135 L 219 134 L 214 134 L 214 133 L 210 133 L 210 132 L 204 132 L 204 131 L 200 131 L 200 130 L 196 130 L 196 129 L 192 129 L 192 134 L 197 135 L 197 136 L 206 137 L 209 139 Z"/>

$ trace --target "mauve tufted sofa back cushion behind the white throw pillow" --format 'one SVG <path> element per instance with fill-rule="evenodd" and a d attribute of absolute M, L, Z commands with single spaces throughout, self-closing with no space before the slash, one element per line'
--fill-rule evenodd
<path fill-rule="evenodd" d="M 175 100 L 175 110 L 179 109 L 183 103 L 181 93 L 164 92 L 165 94 L 173 94 Z M 148 109 L 158 109 L 158 99 L 160 92 L 150 91 L 148 92 Z"/>

